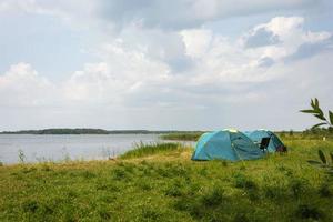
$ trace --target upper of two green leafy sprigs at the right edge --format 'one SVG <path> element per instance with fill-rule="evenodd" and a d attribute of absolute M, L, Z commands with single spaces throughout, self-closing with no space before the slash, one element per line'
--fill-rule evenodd
<path fill-rule="evenodd" d="M 333 128 L 333 112 L 329 110 L 329 118 L 324 115 L 323 110 L 320 108 L 319 100 L 316 98 L 311 99 L 311 108 L 310 110 L 301 110 L 300 112 L 313 114 L 315 118 L 320 119 L 322 122 L 312 127 L 312 129 L 329 125 L 329 128 Z"/>

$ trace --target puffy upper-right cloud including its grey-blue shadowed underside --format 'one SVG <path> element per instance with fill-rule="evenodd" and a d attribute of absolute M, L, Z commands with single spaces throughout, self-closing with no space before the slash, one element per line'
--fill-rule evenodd
<path fill-rule="evenodd" d="M 261 57 L 259 65 L 312 57 L 330 49 L 332 33 L 305 30 L 304 22 L 302 17 L 275 17 L 254 27 L 240 42 L 248 51 Z"/>

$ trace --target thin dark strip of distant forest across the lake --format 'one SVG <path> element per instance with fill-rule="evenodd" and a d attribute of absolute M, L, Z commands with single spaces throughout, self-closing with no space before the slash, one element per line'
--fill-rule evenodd
<path fill-rule="evenodd" d="M 0 134 L 149 134 L 149 133 L 173 133 L 186 131 L 150 131 L 150 130 L 103 130 L 103 129 L 44 129 L 44 130 L 20 130 L 3 131 Z M 191 131 L 193 132 L 193 131 Z"/>

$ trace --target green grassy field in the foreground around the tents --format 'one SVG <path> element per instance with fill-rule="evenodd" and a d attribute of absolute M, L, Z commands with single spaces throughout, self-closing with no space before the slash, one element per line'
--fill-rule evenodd
<path fill-rule="evenodd" d="M 285 140 L 287 154 L 190 160 L 141 145 L 115 161 L 0 167 L 0 221 L 333 221 L 333 178 L 310 165 L 333 141 Z"/>

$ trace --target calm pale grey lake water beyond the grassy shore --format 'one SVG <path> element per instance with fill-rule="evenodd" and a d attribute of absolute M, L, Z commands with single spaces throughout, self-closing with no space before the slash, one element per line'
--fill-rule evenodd
<path fill-rule="evenodd" d="M 24 154 L 24 162 L 100 160 L 124 153 L 135 143 L 162 141 L 159 134 L 0 134 L 0 161 L 18 163 L 20 151 Z"/>

